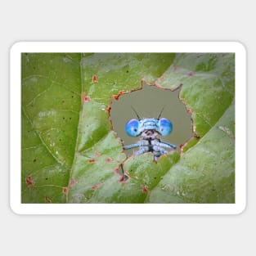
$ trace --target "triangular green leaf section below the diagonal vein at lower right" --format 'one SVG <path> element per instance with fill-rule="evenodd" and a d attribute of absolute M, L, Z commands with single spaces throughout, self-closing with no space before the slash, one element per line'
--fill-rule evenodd
<path fill-rule="evenodd" d="M 163 177 L 149 203 L 234 203 L 234 104 Z M 200 159 L 200 160 L 199 160 Z"/>

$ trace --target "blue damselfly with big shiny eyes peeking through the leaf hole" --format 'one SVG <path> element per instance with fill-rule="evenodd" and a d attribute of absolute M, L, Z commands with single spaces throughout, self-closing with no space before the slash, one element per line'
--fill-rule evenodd
<path fill-rule="evenodd" d="M 136 110 L 133 108 L 132 110 L 137 115 Z M 125 125 L 125 132 L 131 137 L 141 136 L 141 139 L 135 144 L 124 146 L 124 150 L 138 147 L 139 149 L 135 152 L 135 155 L 152 152 L 155 161 L 157 161 L 161 155 L 170 153 L 167 149 L 176 150 L 177 146 L 159 139 L 159 135 L 168 136 L 173 130 L 173 124 L 169 119 L 160 118 L 163 110 L 164 108 L 161 110 L 157 119 L 141 119 L 139 115 L 137 115 L 137 119 L 128 121 Z"/>

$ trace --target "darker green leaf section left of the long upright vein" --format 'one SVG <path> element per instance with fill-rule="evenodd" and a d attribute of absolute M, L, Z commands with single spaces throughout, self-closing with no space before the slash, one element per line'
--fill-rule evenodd
<path fill-rule="evenodd" d="M 79 122 L 78 54 L 22 54 L 23 203 L 65 203 Z"/>

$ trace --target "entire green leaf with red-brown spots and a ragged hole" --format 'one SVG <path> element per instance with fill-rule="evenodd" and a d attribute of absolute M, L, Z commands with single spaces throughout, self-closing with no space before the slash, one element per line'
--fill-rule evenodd
<path fill-rule="evenodd" d="M 234 202 L 234 72 L 232 54 L 22 54 L 22 202 Z M 200 139 L 181 156 L 124 154 L 110 101 L 141 79 L 183 84 Z"/>

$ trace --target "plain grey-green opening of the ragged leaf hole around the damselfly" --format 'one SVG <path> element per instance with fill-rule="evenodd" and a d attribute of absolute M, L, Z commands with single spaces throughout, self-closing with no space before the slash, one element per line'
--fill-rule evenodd
<path fill-rule="evenodd" d="M 177 146 L 182 145 L 193 136 L 191 110 L 187 110 L 185 104 L 179 99 L 181 87 L 174 91 L 158 88 L 143 82 L 141 89 L 129 93 L 120 94 L 118 99 L 112 97 L 110 105 L 110 119 L 115 132 L 128 146 L 140 140 L 141 136 L 129 137 L 125 132 L 125 124 L 131 119 L 165 118 L 173 124 L 173 130 L 168 136 L 158 136 L 161 141 L 166 141 Z M 137 115 L 134 110 L 136 110 Z M 130 156 L 138 148 L 125 150 Z"/>

